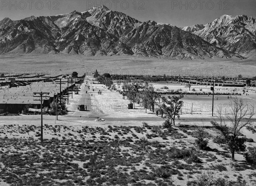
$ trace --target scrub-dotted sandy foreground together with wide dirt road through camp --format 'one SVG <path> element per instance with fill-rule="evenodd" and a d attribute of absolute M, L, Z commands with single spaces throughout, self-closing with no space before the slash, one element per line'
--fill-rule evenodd
<path fill-rule="evenodd" d="M 212 97 L 186 95 L 184 108 L 172 131 L 163 129 L 165 119 L 136 104 L 87 76 L 79 94 L 70 98 L 67 115 L 44 115 L 44 143 L 41 144 L 40 115 L 0 117 L 1 185 L 192 185 L 205 174 L 239 185 L 256 185 L 255 167 L 245 163 L 243 152 L 230 159 L 224 144 L 215 143 L 212 128 Z M 154 83 L 155 89 L 168 86 L 186 90 L 183 84 Z M 87 86 L 90 86 L 88 89 Z M 192 86 L 207 92 L 209 86 Z M 230 92 L 233 87 L 216 87 Z M 102 94 L 97 94 L 98 91 Z M 87 93 L 86 93 L 87 91 Z M 242 88 L 236 88 L 241 93 Z M 187 92 L 189 92 L 187 90 Z M 255 104 L 255 88 L 242 94 Z M 227 96 L 215 97 L 215 110 L 227 106 Z M 193 113 L 191 113 L 193 103 Z M 78 111 L 84 104 L 89 111 Z M 210 108 L 209 108 L 210 107 Z M 160 114 L 159 114 L 160 115 Z M 96 122 L 97 117 L 105 119 Z M 253 129 L 255 127 L 253 118 Z M 143 123 L 145 122 L 145 123 Z M 207 126 L 209 148 L 195 145 L 195 126 Z M 242 134 L 256 146 L 256 133 L 244 129 Z"/>

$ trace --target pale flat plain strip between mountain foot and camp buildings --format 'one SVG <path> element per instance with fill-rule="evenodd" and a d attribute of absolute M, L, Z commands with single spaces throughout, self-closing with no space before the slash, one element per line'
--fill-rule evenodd
<path fill-rule="evenodd" d="M 210 59 L 210 60 L 170 60 L 148 57 L 111 56 L 85 57 L 83 55 L 1 55 L 2 73 L 41 73 L 79 74 L 93 73 L 131 74 L 131 75 L 195 75 L 215 77 L 256 76 L 254 59 Z"/>

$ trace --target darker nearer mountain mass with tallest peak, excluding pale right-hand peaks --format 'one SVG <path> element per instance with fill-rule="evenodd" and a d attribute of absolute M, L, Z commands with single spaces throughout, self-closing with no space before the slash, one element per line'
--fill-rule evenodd
<path fill-rule="evenodd" d="M 32 16 L 19 21 L 6 18 L 0 26 L 3 27 L 0 29 L 0 54 L 63 52 L 178 59 L 241 57 L 229 52 L 231 48 L 221 49 L 190 33 L 192 29 L 183 31 L 154 21 L 142 23 L 105 6 L 56 16 Z M 194 26 L 197 30 L 201 28 L 201 25 Z M 246 37 L 244 43 L 250 44 L 250 40 Z"/>

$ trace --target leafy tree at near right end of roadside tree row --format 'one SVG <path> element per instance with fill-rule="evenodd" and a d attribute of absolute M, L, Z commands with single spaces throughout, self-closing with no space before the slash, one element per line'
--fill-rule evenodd
<path fill-rule="evenodd" d="M 182 99 L 184 96 L 180 94 L 179 96 L 168 96 L 168 99 L 166 97 L 162 97 L 163 103 L 166 104 L 165 107 L 165 114 L 166 117 L 172 119 L 173 125 L 175 125 L 175 118 L 180 118 L 180 109 L 183 106 Z"/>

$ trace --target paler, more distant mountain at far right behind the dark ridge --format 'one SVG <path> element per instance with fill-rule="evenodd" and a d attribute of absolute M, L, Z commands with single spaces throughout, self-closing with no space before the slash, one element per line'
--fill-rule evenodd
<path fill-rule="evenodd" d="M 223 15 L 193 34 L 230 52 L 256 57 L 255 17 Z"/>

